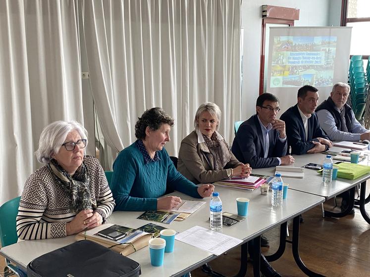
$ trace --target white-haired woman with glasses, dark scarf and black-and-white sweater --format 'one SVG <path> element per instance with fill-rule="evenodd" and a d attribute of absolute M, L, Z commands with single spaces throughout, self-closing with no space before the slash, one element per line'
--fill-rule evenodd
<path fill-rule="evenodd" d="M 36 156 L 46 163 L 28 177 L 19 202 L 21 239 L 64 237 L 101 225 L 114 199 L 99 161 L 85 155 L 87 132 L 76 121 L 45 127 Z"/>

